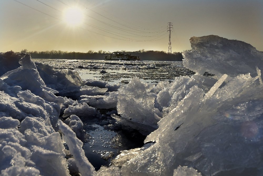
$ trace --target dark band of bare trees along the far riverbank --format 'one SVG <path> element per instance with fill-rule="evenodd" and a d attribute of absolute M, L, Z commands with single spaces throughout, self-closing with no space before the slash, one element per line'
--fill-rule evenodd
<path fill-rule="evenodd" d="M 104 56 L 110 55 L 110 52 L 99 50 L 89 50 L 88 52 L 68 52 L 68 51 L 28 51 L 22 50 L 23 53 L 31 54 L 33 59 L 83 59 L 83 60 L 103 60 Z M 144 49 L 139 51 L 126 51 L 126 54 L 134 56 L 140 56 L 141 60 L 153 60 L 153 61 L 182 61 L 183 56 L 180 52 L 173 52 L 172 54 L 164 51 L 145 51 Z"/>

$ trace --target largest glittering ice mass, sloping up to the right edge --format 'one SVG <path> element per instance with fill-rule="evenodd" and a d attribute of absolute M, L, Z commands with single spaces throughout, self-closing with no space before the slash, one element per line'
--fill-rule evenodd
<path fill-rule="evenodd" d="M 204 175 L 260 174 L 262 90 L 249 74 L 230 78 L 206 101 L 193 86 L 145 139 L 156 143 L 125 163 L 122 174 L 173 175 L 179 165 Z"/>

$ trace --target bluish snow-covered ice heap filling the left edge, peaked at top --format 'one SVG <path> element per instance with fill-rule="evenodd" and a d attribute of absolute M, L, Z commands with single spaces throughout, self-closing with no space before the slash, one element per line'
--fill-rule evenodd
<path fill-rule="evenodd" d="M 55 131 L 67 98 L 55 96 L 58 91 L 46 87 L 30 55 L 8 52 L 0 57 L 3 65 L 10 63 L 10 57 L 21 64 L 0 77 L 1 175 L 69 175 L 62 139 Z M 71 118 L 69 125 L 80 128 L 81 124 L 73 125 L 78 119 Z M 68 138 L 77 140 L 76 136 Z M 90 172 L 82 165 L 78 169 L 83 175 L 93 173 L 92 165 Z"/>

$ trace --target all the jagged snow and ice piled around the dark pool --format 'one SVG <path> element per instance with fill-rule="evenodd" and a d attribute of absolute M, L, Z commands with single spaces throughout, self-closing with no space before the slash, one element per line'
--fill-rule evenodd
<path fill-rule="evenodd" d="M 196 74 L 156 86 L 82 81 L 28 54 L 1 53 L 1 175 L 262 175 L 263 53 L 213 35 L 190 42 L 183 64 Z M 146 136 L 98 173 L 77 138 L 81 119 L 102 116 L 97 108 L 116 108 L 119 127 Z"/>

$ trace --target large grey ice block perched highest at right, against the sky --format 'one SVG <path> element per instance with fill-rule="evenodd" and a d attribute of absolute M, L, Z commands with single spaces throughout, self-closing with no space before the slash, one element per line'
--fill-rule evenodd
<path fill-rule="evenodd" d="M 192 50 L 183 52 L 183 64 L 199 74 L 252 75 L 256 66 L 263 68 L 263 52 L 248 43 L 215 35 L 191 37 L 190 43 Z"/>

